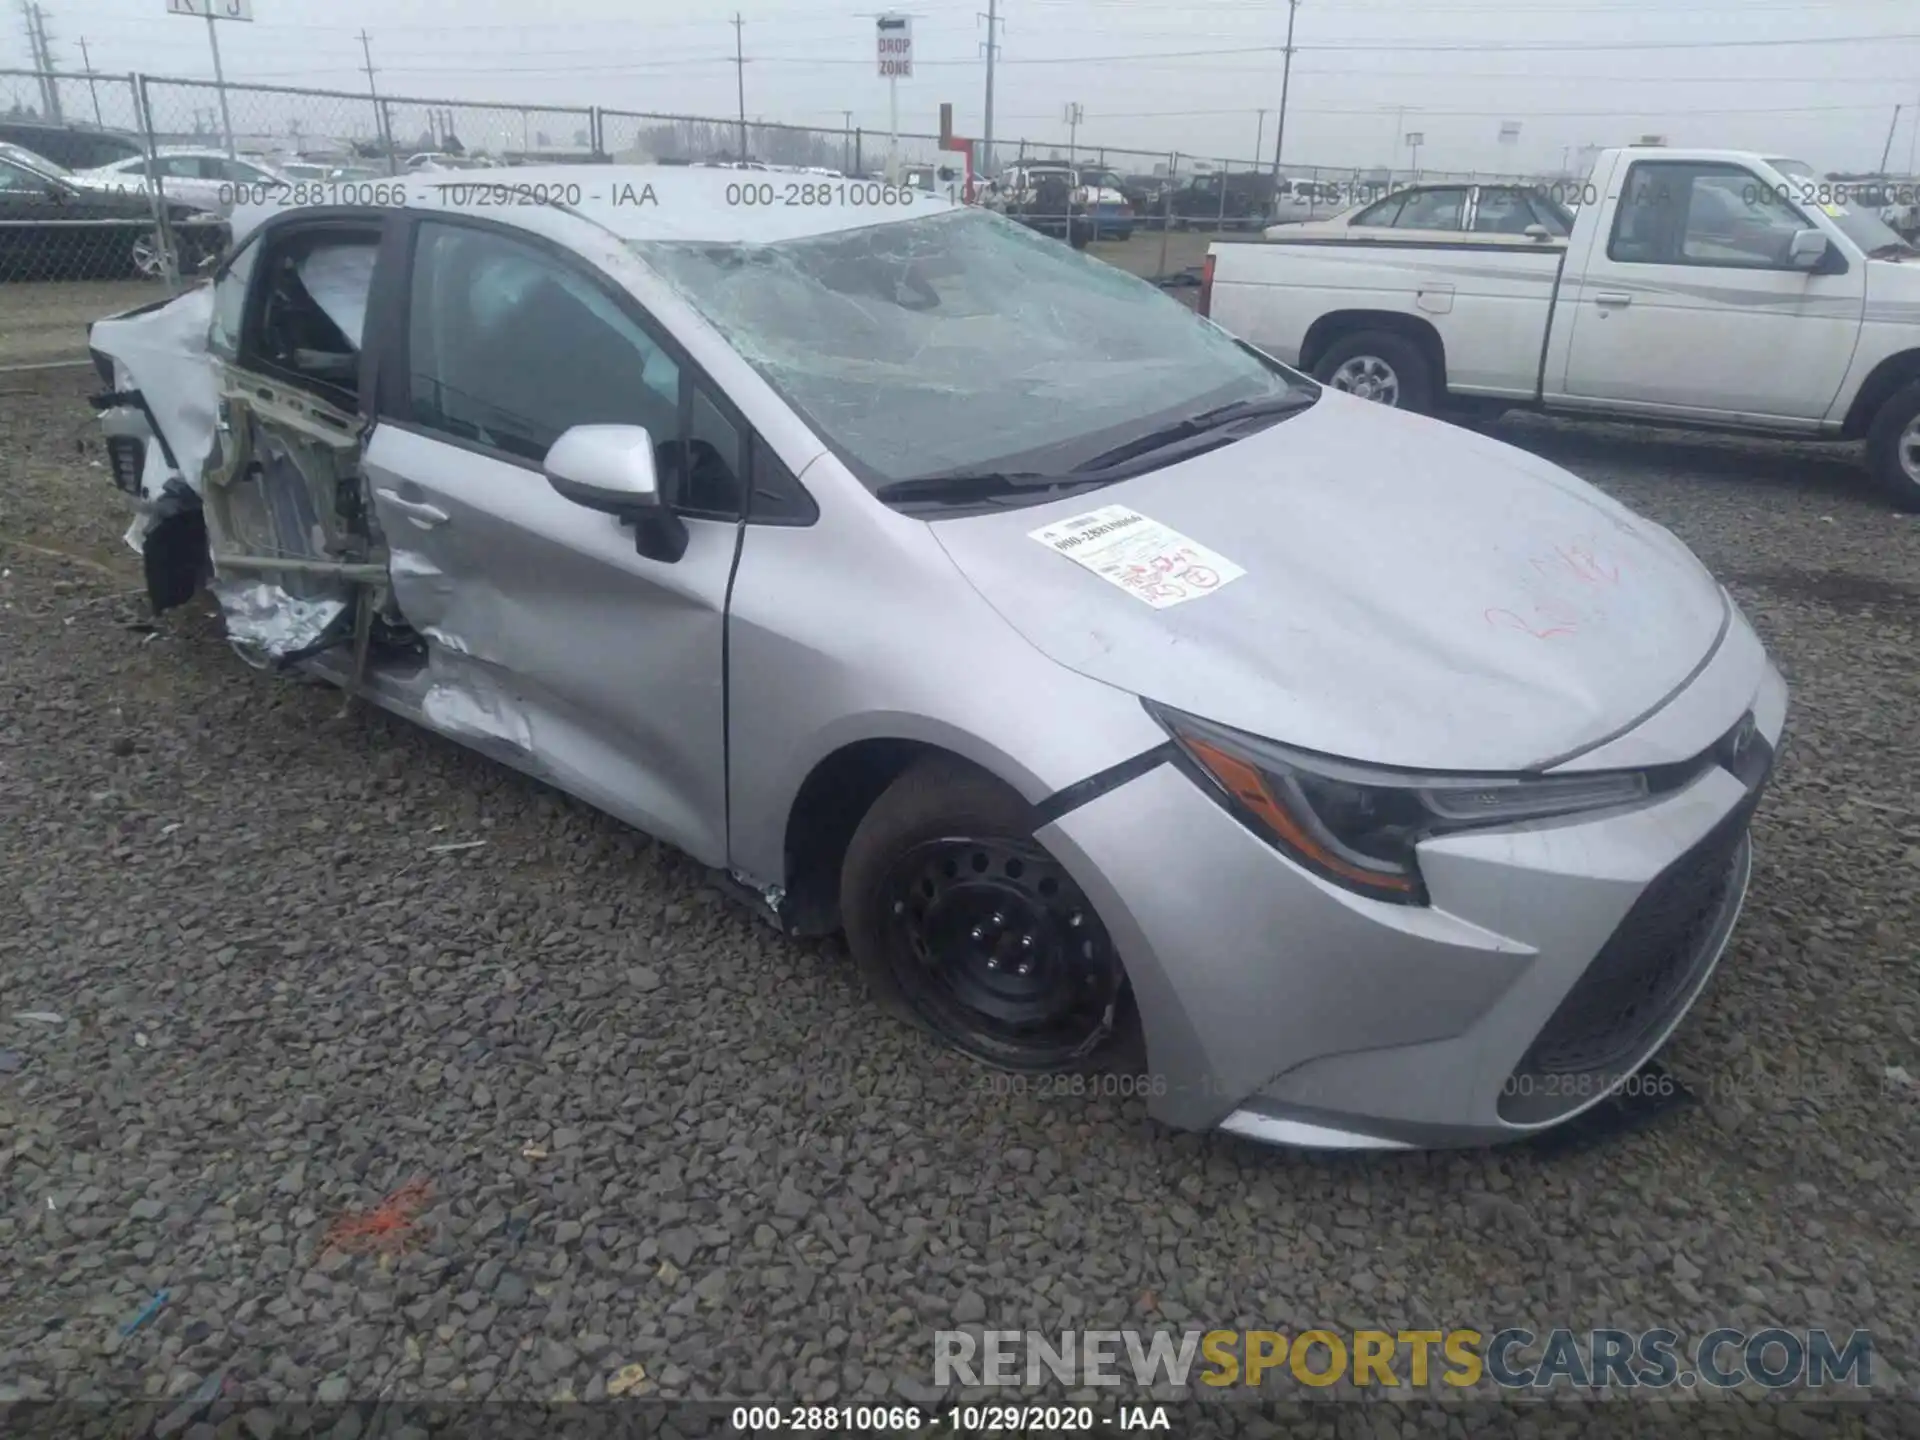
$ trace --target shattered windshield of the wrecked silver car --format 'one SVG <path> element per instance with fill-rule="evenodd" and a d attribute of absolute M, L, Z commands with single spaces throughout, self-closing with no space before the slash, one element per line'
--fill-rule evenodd
<path fill-rule="evenodd" d="M 1069 467 L 1308 386 L 1156 286 L 983 211 L 634 248 L 876 488 Z"/>

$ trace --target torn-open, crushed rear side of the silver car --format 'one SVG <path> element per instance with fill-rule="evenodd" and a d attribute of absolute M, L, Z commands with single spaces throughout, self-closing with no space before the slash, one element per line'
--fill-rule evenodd
<path fill-rule="evenodd" d="M 361 467 L 361 342 L 376 223 L 255 234 L 211 286 L 92 326 L 127 541 L 156 612 L 205 588 L 234 649 L 288 666 L 351 645 L 411 649 Z"/>

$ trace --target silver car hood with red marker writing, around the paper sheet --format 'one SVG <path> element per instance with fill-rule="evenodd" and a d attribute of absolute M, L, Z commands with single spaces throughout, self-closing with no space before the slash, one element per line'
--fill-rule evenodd
<path fill-rule="evenodd" d="M 1104 505 L 1244 574 L 1154 609 L 1033 538 Z M 1419 770 L 1528 770 L 1588 749 L 1684 687 L 1730 620 L 1672 534 L 1586 482 L 1334 392 L 1196 459 L 933 534 L 1071 670 Z"/>

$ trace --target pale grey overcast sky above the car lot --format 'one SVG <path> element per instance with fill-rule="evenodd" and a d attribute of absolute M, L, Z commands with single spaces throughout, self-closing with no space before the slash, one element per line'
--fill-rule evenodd
<path fill-rule="evenodd" d="M 900 83 L 902 129 L 935 129 L 950 100 L 958 131 L 979 134 L 985 23 L 975 10 L 985 4 L 902 6 L 916 58 L 914 79 Z M 40 6 L 63 69 L 81 69 L 84 38 L 98 71 L 211 75 L 205 23 L 169 15 L 167 0 Z M 236 84 L 363 92 L 355 36 L 365 27 L 390 94 L 735 113 L 735 6 L 718 0 L 540 0 L 551 19 L 528 19 L 534 0 L 253 6 L 255 23 L 221 25 Z M 749 119 L 839 129 L 851 109 L 854 125 L 885 132 L 874 10 L 835 0 L 737 6 Z M 1089 150 L 1250 159 L 1258 127 L 1271 161 L 1283 0 L 1002 0 L 1000 17 L 996 140 L 1064 142 L 1064 108 L 1079 102 Z M 0 0 L 0 65 L 29 63 L 25 33 L 19 0 Z M 1914 0 L 1705 0 L 1684 10 L 1672 0 L 1304 0 L 1294 46 L 1288 167 L 1384 165 L 1404 127 L 1425 136 L 1423 169 L 1557 169 L 1569 146 L 1649 132 L 1860 169 L 1878 165 L 1893 106 L 1905 104 L 1891 156 L 1905 169 L 1920 119 Z M 35 100 L 31 84 L 0 77 L 0 108 L 15 94 Z M 190 102 L 211 106 L 213 96 L 167 96 L 175 109 Z M 1515 144 L 1500 142 L 1501 121 L 1521 123 Z M 246 129 L 240 100 L 234 125 Z M 564 144 L 566 125 L 545 129 Z M 1407 154 L 1402 144 L 1398 163 Z"/>

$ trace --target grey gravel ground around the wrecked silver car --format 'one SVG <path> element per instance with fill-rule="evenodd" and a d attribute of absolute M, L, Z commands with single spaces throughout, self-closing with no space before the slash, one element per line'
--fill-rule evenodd
<path fill-rule="evenodd" d="M 84 390 L 0 376 L 0 1396 L 929 1400 L 966 1323 L 1864 1327 L 1920 1380 L 1920 528 L 1847 451 L 1500 430 L 1788 672 L 1753 899 L 1693 1106 L 1323 1158 L 996 1096 L 684 856 L 148 624 Z M 324 1252 L 415 1181 L 392 1263 Z"/>

